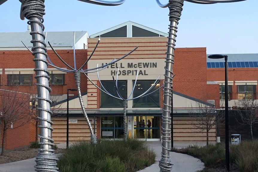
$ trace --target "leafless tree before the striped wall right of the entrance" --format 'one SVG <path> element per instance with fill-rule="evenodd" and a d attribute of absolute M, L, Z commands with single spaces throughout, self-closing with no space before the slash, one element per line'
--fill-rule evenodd
<path fill-rule="evenodd" d="M 208 103 L 196 104 L 197 108 L 188 110 L 189 115 L 192 117 L 192 125 L 196 127 L 197 132 L 206 132 L 206 144 L 209 144 L 209 131 L 216 125 L 218 121 L 224 119 L 223 113 L 219 109 L 215 109 L 214 106 Z"/>

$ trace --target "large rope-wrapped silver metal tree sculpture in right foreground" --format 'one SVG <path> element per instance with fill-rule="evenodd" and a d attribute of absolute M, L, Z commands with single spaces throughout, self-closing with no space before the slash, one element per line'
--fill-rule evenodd
<path fill-rule="evenodd" d="M 198 4 L 215 4 L 215 3 L 225 3 L 225 2 L 237 2 L 245 0 L 185 0 L 188 2 L 198 3 Z M 169 172 L 172 170 L 172 162 L 169 156 L 169 135 L 171 133 L 171 97 L 172 97 L 172 80 L 173 80 L 173 64 L 174 64 L 174 50 L 176 42 L 177 25 L 180 20 L 181 12 L 183 10 L 184 0 L 169 0 L 167 4 L 161 4 L 159 0 L 156 0 L 160 7 L 169 7 L 169 36 L 167 42 L 167 56 L 166 56 L 166 66 L 165 66 L 165 81 L 163 89 L 163 113 L 162 113 L 162 129 L 161 129 L 161 139 L 162 139 L 162 153 L 159 162 L 160 172 Z"/>

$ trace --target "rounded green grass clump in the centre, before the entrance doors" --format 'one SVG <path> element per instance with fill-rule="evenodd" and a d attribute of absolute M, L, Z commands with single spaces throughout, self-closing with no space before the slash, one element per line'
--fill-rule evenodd
<path fill-rule="evenodd" d="M 80 141 L 59 157 L 60 172 L 134 172 L 152 165 L 156 154 L 144 141 Z"/>

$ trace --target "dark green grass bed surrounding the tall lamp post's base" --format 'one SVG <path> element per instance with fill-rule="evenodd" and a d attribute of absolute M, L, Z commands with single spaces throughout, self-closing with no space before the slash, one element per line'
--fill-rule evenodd
<path fill-rule="evenodd" d="M 231 145 L 229 150 L 230 168 L 238 172 L 258 171 L 258 141 L 242 141 L 239 145 Z M 215 171 L 220 169 L 224 171 L 225 167 L 225 145 L 214 144 L 208 146 L 189 146 L 185 149 L 174 152 L 186 153 L 199 158 L 204 162 L 205 168 L 202 172 Z"/>

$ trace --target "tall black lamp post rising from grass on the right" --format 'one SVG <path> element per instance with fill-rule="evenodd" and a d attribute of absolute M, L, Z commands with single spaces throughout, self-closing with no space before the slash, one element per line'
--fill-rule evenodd
<path fill-rule="evenodd" d="M 225 147 L 226 147 L 226 168 L 229 169 L 229 139 L 228 139 L 228 91 L 227 91 L 227 55 L 213 54 L 208 56 L 210 59 L 225 58 Z"/>

